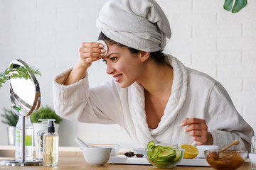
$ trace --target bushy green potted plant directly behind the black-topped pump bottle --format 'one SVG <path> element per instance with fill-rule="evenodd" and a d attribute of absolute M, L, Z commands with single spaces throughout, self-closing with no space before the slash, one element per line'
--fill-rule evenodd
<path fill-rule="evenodd" d="M 41 130 L 41 125 L 39 119 L 55 119 L 55 131 L 58 132 L 58 128 L 60 122 L 63 120 L 58 116 L 53 108 L 50 106 L 41 106 L 38 111 L 35 111 L 30 115 L 31 122 L 33 124 L 34 136 L 36 136 L 37 132 Z"/>

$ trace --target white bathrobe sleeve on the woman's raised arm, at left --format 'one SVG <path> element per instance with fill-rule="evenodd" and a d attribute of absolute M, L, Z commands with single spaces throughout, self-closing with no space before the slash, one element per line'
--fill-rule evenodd
<path fill-rule="evenodd" d="M 113 81 L 96 88 L 89 88 L 88 74 L 84 79 L 63 85 L 71 69 L 53 79 L 55 113 L 62 118 L 81 123 L 122 124 L 122 107 L 118 89 Z"/>

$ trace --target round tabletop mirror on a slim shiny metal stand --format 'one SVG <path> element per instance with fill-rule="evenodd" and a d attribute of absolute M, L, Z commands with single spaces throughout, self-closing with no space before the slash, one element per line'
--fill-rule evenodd
<path fill-rule="evenodd" d="M 22 60 L 14 60 L 9 68 L 28 67 Z M 14 72 L 15 74 L 15 72 Z M 41 160 L 25 159 L 25 117 L 38 110 L 41 105 L 41 93 L 38 81 L 33 73 L 28 72 L 30 79 L 11 79 L 9 74 L 11 108 L 22 118 L 21 121 L 21 159 L 9 159 L 0 162 L 6 166 L 41 166 Z M 33 139 L 32 139 L 33 140 Z M 18 146 L 16 146 L 18 147 Z"/>

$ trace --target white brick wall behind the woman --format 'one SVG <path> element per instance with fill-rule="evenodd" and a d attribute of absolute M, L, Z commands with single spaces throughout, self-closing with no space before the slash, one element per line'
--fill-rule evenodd
<path fill-rule="evenodd" d="M 41 70 L 42 104 L 53 106 L 51 80 L 78 59 L 83 41 L 97 40 L 95 21 L 105 0 L 0 0 L 0 71 L 11 60 L 21 59 Z M 223 10 L 224 0 L 157 0 L 172 30 L 165 52 L 183 64 L 206 72 L 220 81 L 233 98 L 240 114 L 256 128 L 256 1 L 239 13 Z M 110 77 L 105 64 L 89 69 L 90 85 Z M 100 73 L 100 74 L 99 74 Z M 0 109 L 9 108 L 9 86 L 0 90 Z M 0 128 L 6 125 L 0 123 Z M 88 125 L 64 120 L 60 145 L 75 145 L 74 138 L 87 143 L 134 143 L 117 125 Z M 5 145 L 3 130 L 0 145 Z M 117 138 L 118 136 L 118 138 Z"/>

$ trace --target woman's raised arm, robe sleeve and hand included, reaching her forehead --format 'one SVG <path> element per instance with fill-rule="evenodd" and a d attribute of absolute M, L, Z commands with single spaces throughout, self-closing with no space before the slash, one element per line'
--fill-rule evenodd
<path fill-rule="evenodd" d="M 63 118 L 82 123 L 114 123 L 122 110 L 119 93 L 114 83 L 91 89 L 87 68 L 92 62 L 104 57 L 105 50 L 97 42 L 83 42 L 80 57 L 73 69 L 67 69 L 53 79 L 55 112 Z M 103 54 L 103 55 L 102 55 Z M 114 116 L 113 116 L 114 115 Z"/>

